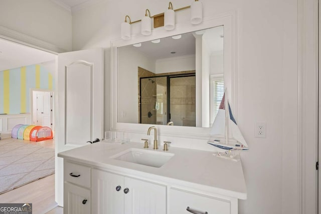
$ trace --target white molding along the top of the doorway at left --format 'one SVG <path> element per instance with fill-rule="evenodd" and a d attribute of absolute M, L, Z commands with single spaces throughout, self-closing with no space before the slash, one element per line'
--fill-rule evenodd
<path fill-rule="evenodd" d="M 45 41 L 36 39 L 26 34 L 19 33 L 17 31 L 0 26 L 0 38 L 8 41 L 12 41 L 21 45 L 25 45 L 31 48 L 46 51 L 52 54 L 58 54 L 67 52 L 64 49 L 58 48 L 57 46 L 47 43 Z"/>

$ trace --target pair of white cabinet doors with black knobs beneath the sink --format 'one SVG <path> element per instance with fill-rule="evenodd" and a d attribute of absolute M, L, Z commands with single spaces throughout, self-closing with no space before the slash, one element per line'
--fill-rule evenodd
<path fill-rule="evenodd" d="M 167 186 L 92 170 L 92 213 L 164 214 Z"/>

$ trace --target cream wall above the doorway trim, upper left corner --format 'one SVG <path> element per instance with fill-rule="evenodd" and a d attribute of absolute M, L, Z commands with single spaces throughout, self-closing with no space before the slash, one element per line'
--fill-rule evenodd
<path fill-rule="evenodd" d="M 11 38 L 17 36 L 1 27 L 71 51 L 71 13 L 50 0 L 0 1 L 0 32 Z"/>

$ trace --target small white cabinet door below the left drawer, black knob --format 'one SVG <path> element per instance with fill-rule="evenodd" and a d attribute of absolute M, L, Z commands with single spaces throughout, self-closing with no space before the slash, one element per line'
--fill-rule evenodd
<path fill-rule="evenodd" d="M 65 214 L 88 214 L 90 212 L 90 190 L 64 183 L 64 213 Z"/>

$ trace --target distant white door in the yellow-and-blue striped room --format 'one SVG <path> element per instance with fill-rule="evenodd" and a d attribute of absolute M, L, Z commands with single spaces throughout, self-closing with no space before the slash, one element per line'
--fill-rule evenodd
<path fill-rule="evenodd" d="M 37 92 L 37 125 L 40 126 L 48 126 L 52 128 L 51 122 L 51 113 L 52 113 L 52 105 L 51 105 L 51 92 Z"/>

